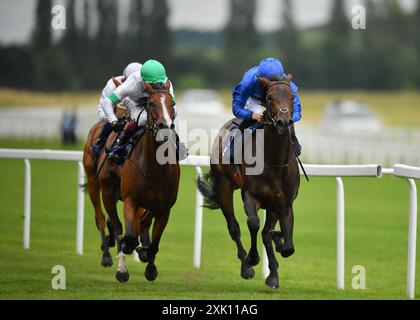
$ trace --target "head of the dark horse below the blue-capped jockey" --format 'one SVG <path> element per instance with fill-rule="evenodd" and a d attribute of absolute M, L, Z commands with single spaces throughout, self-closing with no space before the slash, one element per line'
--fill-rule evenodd
<path fill-rule="evenodd" d="M 290 87 L 291 80 L 291 74 L 278 80 L 258 78 L 266 92 L 265 121 L 274 126 L 279 134 L 286 134 L 292 124 L 294 94 Z"/>

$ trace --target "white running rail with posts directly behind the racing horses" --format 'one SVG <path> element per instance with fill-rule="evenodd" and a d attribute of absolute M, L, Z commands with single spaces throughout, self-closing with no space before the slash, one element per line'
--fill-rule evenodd
<path fill-rule="evenodd" d="M 82 166 L 80 151 L 59 150 L 25 150 L 0 149 L 0 158 L 25 160 L 25 195 L 24 195 L 24 232 L 23 247 L 30 247 L 30 215 L 31 215 L 31 170 L 29 159 L 65 160 L 78 163 L 78 193 L 77 193 L 77 232 L 76 251 L 83 254 L 84 227 L 84 181 L 85 173 Z M 180 163 L 194 166 L 196 175 L 201 175 L 200 167 L 208 167 L 210 159 L 207 156 L 189 156 Z M 382 174 L 394 174 L 408 179 L 410 191 L 409 205 L 409 236 L 408 236 L 408 267 L 407 267 L 407 296 L 414 299 L 415 262 L 416 262 L 416 230 L 417 230 L 417 189 L 413 179 L 420 179 L 420 168 L 405 165 L 395 165 L 392 169 L 382 169 L 380 165 L 304 165 L 309 176 L 334 177 L 337 184 L 337 288 L 344 289 L 344 186 L 342 177 L 381 177 Z M 302 172 L 301 172 L 302 174 Z M 194 259 L 196 268 L 201 266 L 201 240 L 203 221 L 203 197 L 196 191 Z M 268 274 L 267 257 L 264 250 L 263 273 Z"/>

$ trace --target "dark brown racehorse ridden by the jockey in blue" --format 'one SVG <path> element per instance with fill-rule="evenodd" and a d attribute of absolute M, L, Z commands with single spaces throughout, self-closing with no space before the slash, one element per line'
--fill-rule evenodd
<path fill-rule="evenodd" d="M 262 172 L 247 175 L 246 169 L 251 165 L 245 163 L 243 155 L 239 172 L 234 164 L 223 163 L 223 142 L 229 138 L 229 132 L 221 130 L 213 145 L 210 171 L 197 179 L 197 186 L 205 197 L 206 206 L 210 209 L 221 208 L 226 218 L 229 234 L 237 246 L 237 255 L 241 261 L 241 276 L 244 279 L 254 277 L 253 266 L 260 260 L 257 250 L 257 233 L 260 228 L 258 210 L 260 208 L 266 210 L 262 240 L 270 269 L 265 283 L 270 288 L 279 287 L 278 262 L 272 242 L 282 257 L 287 258 L 294 253 L 293 201 L 298 194 L 300 176 L 291 143 L 294 99 L 290 88 L 291 79 L 290 74 L 284 79 L 261 77 L 258 79 L 266 92 L 266 111 L 261 123 L 264 138 Z M 255 134 L 252 135 L 250 142 L 255 146 Z M 251 234 L 251 248 L 248 254 L 240 239 L 240 228 L 233 207 L 233 192 L 239 188 Z M 280 222 L 281 232 L 274 231 L 277 221 Z"/>

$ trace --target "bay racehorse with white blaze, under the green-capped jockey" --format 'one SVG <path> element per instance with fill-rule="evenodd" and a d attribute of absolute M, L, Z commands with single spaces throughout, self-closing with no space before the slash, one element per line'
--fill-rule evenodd
<path fill-rule="evenodd" d="M 159 242 L 168 223 L 169 214 L 178 196 L 180 168 L 176 157 L 175 143 L 167 144 L 167 152 L 172 154 L 166 163 L 160 162 L 159 148 L 176 137 L 174 128 L 175 101 L 169 93 L 170 81 L 162 87 L 144 83 L 148 93 L 146 106 L 146 132 L 133 147 L 130 157 L 122 170 L 121 194 L 124 201 L 125 235 L 121 240 L 122 252 L 130 254 L 139 245 L 141 221 L 145 219 L 145 209 L 154 219 L 150 245 L 146 253 L 145 277 L 156 279 L 155 265 Z M 162 136 L 162 132 L 170 135 Z M 147 236 L 147 235 L 146 235 Z M 140 251 L 142 252 L 142 251 Z"/>

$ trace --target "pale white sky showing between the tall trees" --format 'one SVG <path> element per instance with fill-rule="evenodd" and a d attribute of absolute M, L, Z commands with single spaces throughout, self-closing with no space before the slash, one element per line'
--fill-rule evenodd
<path fill-rule="evenodd" d="M 124 14 L 129 0 L 119 1 Z M 296 22 L 302 27 L 325 22 L 329 17 L 332 1 L 334 0 L 294 0 Z M 346 0 L 348 13 L 350 14 L 353 5 L 363 2 L 364 0 Z M 400 2 L 406 10 L 412 10 L 416 5 L 415 0 Z M 256 24 L 260 31 L 270 31 L 281 26 L 281 4 L 282 0 L 257 0 Z M 34 23 L 35 5 L 36 0 L 0 0 L 0 42 L 22 43 L 28 39 Z M 173 29 L 220 30 L 229 18 L 229 0 L 169 0 L 169 6 L 169 24 Z M 121 26 L 124 27 L 124 21 Z"/>

